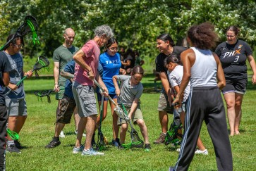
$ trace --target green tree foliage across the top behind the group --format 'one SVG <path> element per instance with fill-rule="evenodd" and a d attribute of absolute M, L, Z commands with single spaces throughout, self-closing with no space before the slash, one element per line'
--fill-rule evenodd
<path fill-rule="evenodd" d="M 63 30 L 72 27 L 74 44 L 83 44 L 93 37 L 98 25 L 108 24 L 119 44 L 138 49 L 148 63 L 157 56 L 156 37 L 164 32 L 176 42 L 183 39 L 188 27 L 209 21 L 215 25 L 220 41 L 224 41 L 229 25 L 240 27 L 240 38 L 255 46 L 256 2 L 253 0 L 2 0 L 1 27 L 11 30 L 23 22 L 25 15 L 33 15 L 39 24 L 40 46 L 26 38 L 25 52 L 33 56 L 44 53 L 52 56 L 63 43 Z M 8 18 L 4 15 L 10 11 Z M 4 20 L 2 20 L 4 16 Z M 8 20 L 8 22 L 7 22 Z M 6 36 L 6 29 L 1 35 Z M 1 36 L 2 37 L 2 36 Z"/>

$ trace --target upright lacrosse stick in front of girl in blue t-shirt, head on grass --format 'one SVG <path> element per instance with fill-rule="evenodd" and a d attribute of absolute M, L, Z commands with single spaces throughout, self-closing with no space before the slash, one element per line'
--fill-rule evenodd
<path fill-rule="evenodd" d="M 102 92 L 102 90 L 100 90 Z M 99 126 L 98 126 L 98 141 L 96 144 L 96 150 L 102 151 L 105 149 L 104 144 L 104 136 L 102 133 L 102 115 L 103 115 L 103 108 L 104 108 L 104 95 L 102 94 L 102 105 L 100 106 L 100 119 L 99 119 Z"/>

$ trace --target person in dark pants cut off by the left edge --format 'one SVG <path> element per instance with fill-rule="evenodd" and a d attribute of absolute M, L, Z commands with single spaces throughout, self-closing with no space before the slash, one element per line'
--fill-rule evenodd
<path fill-rule="evenodd" d="M 4 89 L 10 82 L 11 65 L 4 52 L 0 52 L 0 170 L 6 170 L 6 123 L 8 120 Z"/>

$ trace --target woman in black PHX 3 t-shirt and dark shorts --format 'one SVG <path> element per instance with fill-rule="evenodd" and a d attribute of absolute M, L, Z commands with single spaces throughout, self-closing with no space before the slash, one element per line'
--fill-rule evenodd
<path fill-rule="evenodd" d="M 219 44 L 215 50 L 226 78 L 226 87 L 222 89 L 222 93 L 226 101 L 231 136 L 240 134 L 241 106 L 248 83 L 246 59 L 248 59 L 253 71 L 252 84 L 256 84 L 256 65 L 252 57 L 252 49 L 246 42 L 238 39 L 239 31 L 236 26 L 228 27 L 226 42 Z"/>

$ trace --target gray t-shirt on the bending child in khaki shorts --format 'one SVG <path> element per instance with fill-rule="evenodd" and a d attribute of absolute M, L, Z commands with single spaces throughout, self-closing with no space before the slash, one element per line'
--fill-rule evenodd
<path fill-rule="evenodd" d="M 128 75 L 117 75 L 117 80 L 121 81 L 121 94 L 120 98 L 124 105 L 131 106 L 135 98 L 140 99 L 143 92 L 143 86 L 141 82 L 137 85 L 130 85 L 130 77 Z M 119 101 L 118 101 L 119 103 Z"/>

